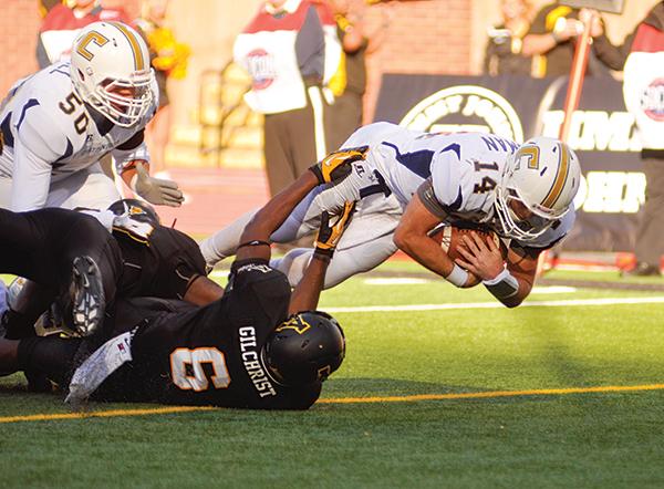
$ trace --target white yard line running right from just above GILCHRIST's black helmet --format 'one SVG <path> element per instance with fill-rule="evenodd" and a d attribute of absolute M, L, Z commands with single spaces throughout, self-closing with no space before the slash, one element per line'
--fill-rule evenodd
<path fill-rule="evenodd" d="M 528 301 L 519 308 L 570 308 L 579 305 L 632 305 L 662 304 L 664 296 L 575 299 L 569 301 Z M 326 312 L 400 312 L 400 311 L 452 311 L 456 309 L 506 309 L 500 302 L 461 302 L 455 304 L 363 305 L 357 308 L 322 308 Z"/>

